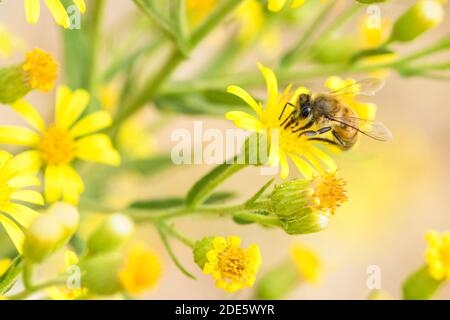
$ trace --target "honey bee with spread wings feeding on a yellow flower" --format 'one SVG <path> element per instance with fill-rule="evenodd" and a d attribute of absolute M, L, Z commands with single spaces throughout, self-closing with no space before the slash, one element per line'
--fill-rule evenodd
<path fill-rule="evenodd" d="M 295 105 L 284 106 L 280 121 L 288 106 L 293 110 L 281 127 L 290 127 L 293 133 L 299 132 L 299 137 L 304 135 L 308 140 L 329 143 L 344 151 L 355 145 L 360 133 L 375 140 L 389 141 L 392 134 L 381 122 L 358 118 L 339 98 L 347 94 L 373 96 L 383 85 L 382 80 L 368 78 L 326 94 L 300 94 Z M 312 130 L 312 127 L 319 129 Z M 328 132 L 331 137 L 321 136 Z"/>

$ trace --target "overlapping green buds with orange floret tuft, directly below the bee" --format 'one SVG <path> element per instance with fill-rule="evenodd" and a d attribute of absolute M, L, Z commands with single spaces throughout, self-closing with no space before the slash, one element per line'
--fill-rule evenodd
<path fill-rule="evenodd" d="M 336 209 L 347 201 L 344 185 L 335 173 L 284 182 L 272 192 L 273 211 L 288 234 L 321 231 L 328 226 Z"/>

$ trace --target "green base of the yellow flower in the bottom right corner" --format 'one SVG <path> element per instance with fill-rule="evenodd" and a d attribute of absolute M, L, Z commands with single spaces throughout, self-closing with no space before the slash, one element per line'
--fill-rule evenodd
<path fill-rule="evenodd" d="M 428 273 L 428 267 L 423 266 L 413 273 L 403 283 L 404 300 L 428 300 L 439 289 L 443 280 L 435 280 Z"/>

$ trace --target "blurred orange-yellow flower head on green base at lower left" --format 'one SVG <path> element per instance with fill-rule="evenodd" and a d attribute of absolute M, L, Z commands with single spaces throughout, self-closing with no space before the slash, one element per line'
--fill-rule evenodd
<path fill-rule="evenodd" d="M 131 294 L 140 294 L 153 288 L 161 277 L 162 266 L 159 257 L 144 244 L 135 244 L 119 271 L 124 289 Z"/>

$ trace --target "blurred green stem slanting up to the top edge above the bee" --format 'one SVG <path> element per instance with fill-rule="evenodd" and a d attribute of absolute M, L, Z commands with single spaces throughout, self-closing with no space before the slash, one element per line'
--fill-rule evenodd
<path fill-rule="evenodd" d="M 280 67 L 285 68 L 290 66 L 294 60 L 297 58 L 297 54 L 304 48 L 304 46 L 309 42 L 311 37 L 317 32 L 323 22 L 332 12 L 332 8 L 336 5 L 336 1 L 330 1 L 326 6 L 320 10 L 319 14 L 316 16 L 311 24 L 308 26 L 306 31 L 300 40 L 281 58 Z"/>

